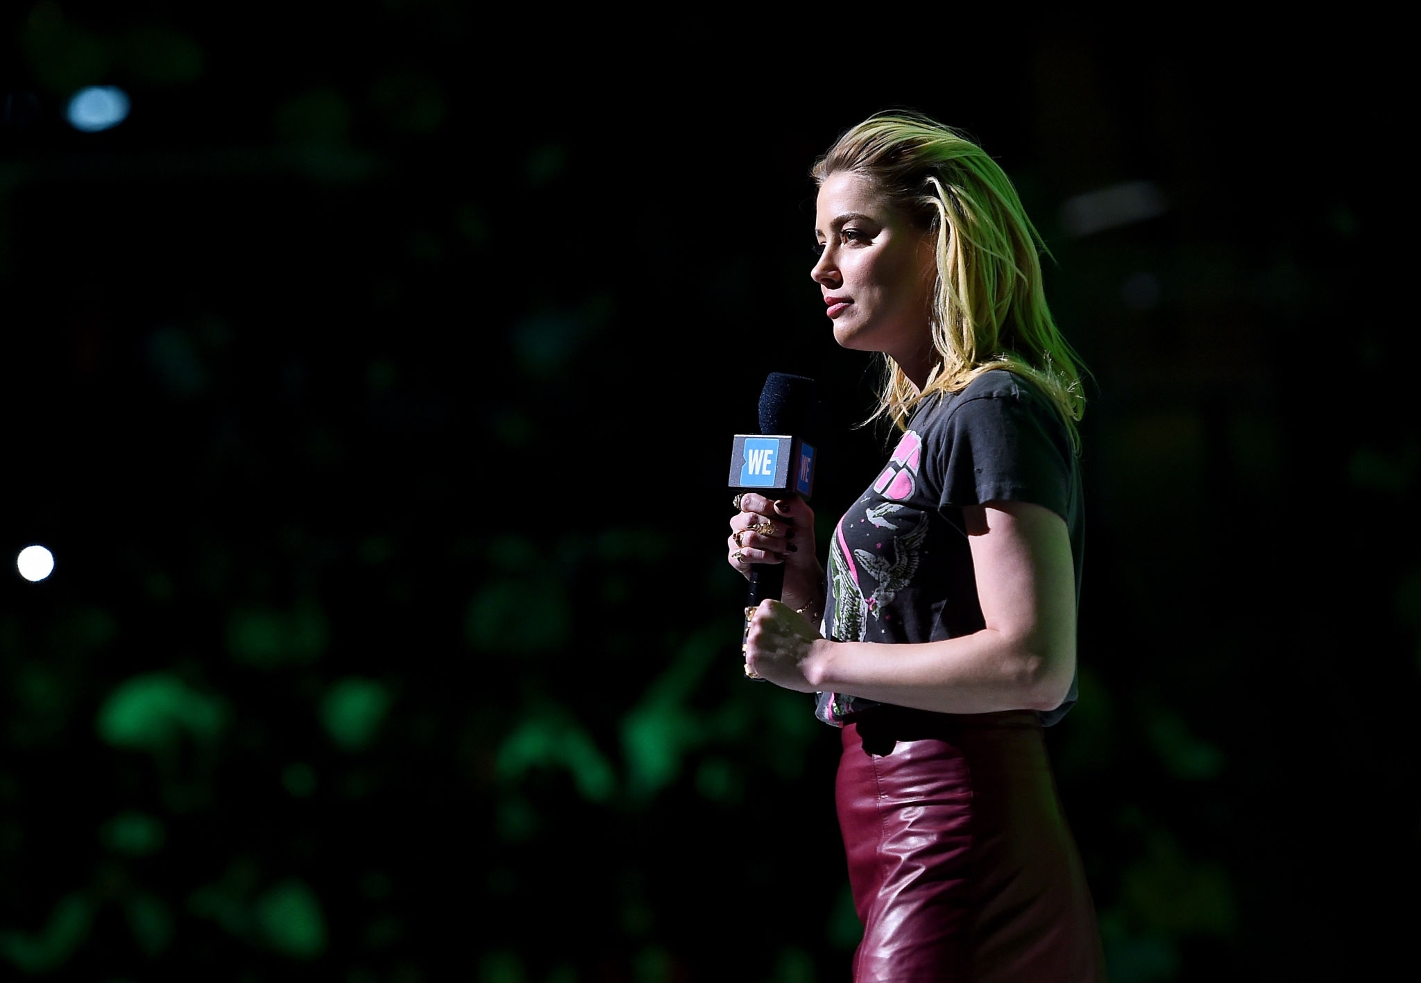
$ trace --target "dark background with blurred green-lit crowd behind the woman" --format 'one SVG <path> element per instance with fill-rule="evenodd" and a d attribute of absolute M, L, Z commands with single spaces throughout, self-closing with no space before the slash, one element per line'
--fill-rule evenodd
<path fill-rule="evenodd" d="M 770 371 L 821 521 L 877 472 L 806 172 L 891 107 L 1012 175 L 1094 374 L 1049 742 L 1111 979 L 1403 952 L 1395 31 L 864 14 L 6 7 L 0 530 L 57 568 L 0 592 L 0 977 L 847 979 L 837 734 L 740 675 L 725 472 Z M 1164 213 L 1070 233 L 1127 180 Z"/>

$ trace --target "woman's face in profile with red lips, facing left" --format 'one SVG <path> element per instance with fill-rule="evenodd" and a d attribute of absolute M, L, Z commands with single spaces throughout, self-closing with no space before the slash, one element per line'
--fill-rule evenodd
<path fill-rule="evenodd" d="M 823 251 L 810 277 L 824 294 L 834 341 L 891 355 L 921 388 L 934 362 L 935 234 L 858 175 L 838 170 L 820 185 L 814 237 Z"/>

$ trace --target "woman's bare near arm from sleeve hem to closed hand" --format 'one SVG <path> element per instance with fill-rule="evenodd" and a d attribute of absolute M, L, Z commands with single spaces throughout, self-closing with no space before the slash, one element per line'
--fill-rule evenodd
<path fill-rule="evenodd" d="M 747 662 L 803 692 L 831 690 L 942 713 L 1054 709 L 1076 670 L 1076 571 L 1060 516 L 1023 501 L 963 510 L 986 626 L 888 645 L 831 642 L 764 601 Z"/>

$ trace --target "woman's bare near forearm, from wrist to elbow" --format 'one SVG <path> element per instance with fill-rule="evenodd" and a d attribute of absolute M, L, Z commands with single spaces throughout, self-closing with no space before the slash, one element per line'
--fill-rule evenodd
<path fill-rule="evenodd" d="M 938 713 L 1050 710 L 1066 697 L 1074 668 L 1074 645 L 992 628 L 914 645 L 818 639 L 801 663 L 816 690 Z"/>

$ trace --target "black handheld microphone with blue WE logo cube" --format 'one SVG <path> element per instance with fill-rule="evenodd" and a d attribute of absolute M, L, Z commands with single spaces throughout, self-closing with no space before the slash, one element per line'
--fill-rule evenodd
<path fill-rule="evenodd" d="M 818 463 L 814 440 L 818 423 L 818 388 L 814 379 L 770 372 L 760 391 L 760 433 L 736 433 L 730 449 L 730 487 L 759 492 L 769 499 L 797 494 L 806 501 L 814 492 Z M 784 564 L 750 564 L 746 608 L 764 598 L 780 599 Z"/>

